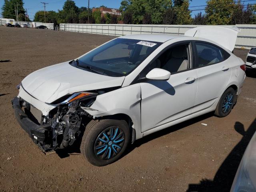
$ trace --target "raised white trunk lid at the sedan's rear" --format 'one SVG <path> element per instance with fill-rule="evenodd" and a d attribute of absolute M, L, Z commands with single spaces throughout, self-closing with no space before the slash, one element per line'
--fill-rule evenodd
<path fill-rule="evenodd" d="M 235 48 L 239 29 L 233 26 L 202 26 L 185 32 L 185 36 L 200 37 L 214 41 L 232 51 Z"/>

